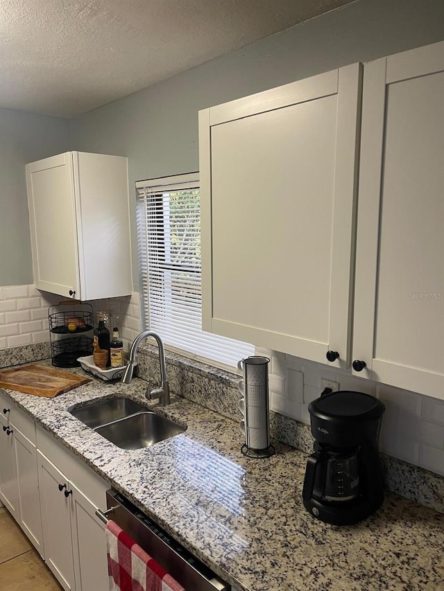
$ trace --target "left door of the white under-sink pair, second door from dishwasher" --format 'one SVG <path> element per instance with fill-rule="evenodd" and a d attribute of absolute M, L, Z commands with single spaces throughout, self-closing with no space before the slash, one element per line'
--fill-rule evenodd
<path fill-rule="evenodd" d="M 69 481 L 37 450 L 46 565 L 62 588 L 74 589 Z M 68 496 L 65 495 L 68 493 Z"/>

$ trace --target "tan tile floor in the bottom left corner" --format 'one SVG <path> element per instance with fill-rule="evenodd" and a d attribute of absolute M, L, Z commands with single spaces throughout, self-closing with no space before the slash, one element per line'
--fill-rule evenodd
<path fill-rule="evenodd" d="M 60 591 L 49 568 L 4 507 L 0 508 L 1 591 Z"/>

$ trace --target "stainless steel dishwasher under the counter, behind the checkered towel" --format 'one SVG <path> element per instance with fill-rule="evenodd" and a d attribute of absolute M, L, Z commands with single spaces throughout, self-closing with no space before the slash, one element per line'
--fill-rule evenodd
<path fill-rule="evenodd" d="M 108 518 L 128 533 L 147 554 L 173 576 L 186 591 L 230 591 L 231 587 L 190 554 L 133 503 L 112 488 L 106 493 L 107 511 L 96 515 Z"/>

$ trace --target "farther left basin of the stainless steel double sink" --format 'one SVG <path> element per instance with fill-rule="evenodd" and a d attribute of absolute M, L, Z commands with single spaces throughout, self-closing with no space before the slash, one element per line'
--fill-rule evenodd
<path fill-rule="evenodd" d="M 97 403 L 80 408 L 70 409 L 69 412 L 78 418 L 79 421 L 94 429 L 94 427 L 106 425 L 107 423 L 112 423 L 112 421 L 118 421 L 119 418 L 125 418 L 143 410 L 146 410 L 146 407 L 130 398 L 119 396 L 117 398 L 100 400 Z"/>

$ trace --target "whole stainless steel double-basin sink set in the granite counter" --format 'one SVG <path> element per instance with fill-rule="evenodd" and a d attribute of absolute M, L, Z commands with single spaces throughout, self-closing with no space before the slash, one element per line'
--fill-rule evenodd
<path fill-rule="evenodd" d="M 147 448 L 185 431 L 185 427 L 123 396 L 71 407 L 69 412 L 124 450 Z"/>

